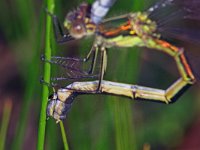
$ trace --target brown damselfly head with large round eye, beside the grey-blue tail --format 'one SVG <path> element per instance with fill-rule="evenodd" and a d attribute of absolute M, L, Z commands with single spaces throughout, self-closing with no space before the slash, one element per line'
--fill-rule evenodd
<path fill-rule="evenodd" d="M 76 10 L 67 14 L 64 26 L 74 38 L 80 39 L 95 32 L 96 26 L 90 19 L 90 9 L 87 3 L 82 3 Z"/>

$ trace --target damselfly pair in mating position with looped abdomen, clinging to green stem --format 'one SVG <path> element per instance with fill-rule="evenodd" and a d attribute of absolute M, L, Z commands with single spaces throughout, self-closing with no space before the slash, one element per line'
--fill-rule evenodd
<path fill-rule="evenodd" d="M 74 98 L 81 94 L 112 94 L 130 97 L 132 99 L 150 100 L 154 102 L 171 103 L 176 101 L 188 87 L 196 82 L 196 78 L 191 66 L 186 59 L 184 48 L 170 44 L 162 37 L 163 20 L 156 18 L 156 11 L 162 9 L 180 9 L 183 19 L 193 19 L 197 9 L 192 9 L 193 5 L 200 6 L 200 2 L 194 0 L 161 0 L 145 12 L 130 12 L 124 15 L 104 19 L 113 0 L 96 0 L 92 5 L 82 3 L 80 6 L 67 14 L 64 27 L 67 33 L 63 32 L 58 17 L 50 12 L 52 17 L 55 37 L 58 43 L 94 36 L 94 43 L 85 58 L 69 58 L 53 56 L 45 62 L 55 64 L 66 69 L 65 76 L 52 78 L 51 82 L 82 78 L 95 78 L 94 81 L 73 82 L 66 87 L 55 91 L 49 97 L 47 115 L 52 116 L 57 121 L 63 120 L 71 107 Z M 194 4 L 195 3 L 195 4 Z M 193 5 L 192 5 L 193 4 Z M 47 10 L 48 11 L 48 10 Z M 174 13 L 172 13 L 174 15 Z M 164 52 L 172 57 L 176 63 L 180 78 L 166 90 L 143 87 L 139 85 L 129 85 L 112 81 L 105 81 L 104 74 L 107 69 L 107 51 L 111 47 L 145 47 L 160 52 Z M 98 54 L 99 61 L 97 62 Z M 78 68 L 91 60 L 91 65 L 87 70 Z M 99 71 L 94 74 L 94 69 L 99 66 Z"/>

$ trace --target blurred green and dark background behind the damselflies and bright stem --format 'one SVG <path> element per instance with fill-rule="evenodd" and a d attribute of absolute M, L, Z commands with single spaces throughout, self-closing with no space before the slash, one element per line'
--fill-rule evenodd
<path fill-rule="evenodd" d="M 55 14 L 63 21 L 66 13 L 81 2 L 57 0 Z M 118 0 L 108 16 L 145 10 L 151 4 L 152 1 Z M 44 8 L 45 2 L 41 1 L 0 1 L 0 150 L 36 149 Z M 196 45 L 182 44 L 198 54 Z M 83 57 L 91 45 L 92 38 L 58 45 L 52 34 L 54 55 Z M 141 48 L 108 51 L 106 80 L 167 88 L 176 78 L 174 62 L 164 54 Z M 64 120 L 69 148 L 198 150 L 198 91 L 199 86 L 194 85 L 172 105 L 108 95 L 79 96 Z M 53 119 L 47 121 L 45 149 L 63 149 L 59 125 Z"/>

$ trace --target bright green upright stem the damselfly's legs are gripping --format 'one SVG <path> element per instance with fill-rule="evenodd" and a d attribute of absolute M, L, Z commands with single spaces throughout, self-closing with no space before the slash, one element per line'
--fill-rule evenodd
<path fill-rule="evenodd" d="M 51 13 L 54 10 L 54 0 L 47 0 L 47 9 Z M 46 17 L 46 39 L 45 39 L 45 58 L 51 58 L 51 28 L 52 28 L 52 20 L 49 15 Z M 45 82 L 50 81 L 51 74 L 51 66 L 49 63 L 44 63 L 44 76 L 43 79 Z M 46 85 L 42 87 L 42 105 L 40 112 L 40 121 L 39 121 L 39 130 L 38 130 L 38 143 L 37 150 L 44 149 L 44 141 L 45 141 L 45 128 L 46 128 L 46 106 L 48 101 L 49 89 Z"/>

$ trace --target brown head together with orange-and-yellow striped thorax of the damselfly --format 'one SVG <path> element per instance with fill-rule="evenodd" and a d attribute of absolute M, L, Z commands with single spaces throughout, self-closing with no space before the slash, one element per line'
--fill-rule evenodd
<path fill-rule="evenodd" d="M 95 35 L 94 44 L 104 47 L 145 46 L 149 38 L 158 38 L 156 22 L 148 18 L 147 13 L 128 13 L 118 17 L 93 23 L 88 16 L 87 4 L 82 4 L 77 11 L 70 12 L 64 22 L 70 35 L 75 39 Z"/>

